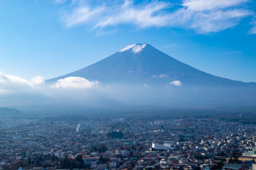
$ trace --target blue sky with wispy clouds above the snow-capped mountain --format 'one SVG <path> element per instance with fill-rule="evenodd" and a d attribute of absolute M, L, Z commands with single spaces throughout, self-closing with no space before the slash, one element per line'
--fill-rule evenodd
<path fill-rule="evenodd" d="M 256 2 L 0 1 L 0 71 L 31 80 L 148 43 L 204 72 L 256 82 Z"/>

